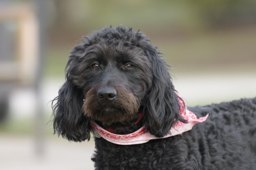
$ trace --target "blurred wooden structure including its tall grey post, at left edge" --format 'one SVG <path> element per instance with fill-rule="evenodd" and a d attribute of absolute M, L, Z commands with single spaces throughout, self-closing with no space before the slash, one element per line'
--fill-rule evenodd
<path fill-rule="evenodd" d="M 0 34 L 3 35 L 0 38 L 0 120 L 8 112 L 9 93 L 14 88 L 32 88 L 36 96 L 35 150 L 39 155 L 43 153 L 43 103 L 40 83 L 45 50 L 43 14 L 46 2 L 47 0 L 35 0 L 29 4 L 0 6 Z"/>

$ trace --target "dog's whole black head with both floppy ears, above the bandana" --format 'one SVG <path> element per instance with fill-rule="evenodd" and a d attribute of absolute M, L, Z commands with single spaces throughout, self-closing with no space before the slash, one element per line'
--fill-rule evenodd
<path fill-rule="evenodd" d="M 182 121 L 168 65 L 141 32 L 106 27 L 71 51 L 66 82 L 53 100 L 54 132 L 68 140 L 90 139 L 90 119 L 110 125 L 143 112 L 143 126 L 166 135 Z"/>

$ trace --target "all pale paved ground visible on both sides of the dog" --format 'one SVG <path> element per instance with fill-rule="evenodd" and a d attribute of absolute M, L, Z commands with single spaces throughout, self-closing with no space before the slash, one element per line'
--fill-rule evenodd
<path fill-rule="evenodd" d="M 50 104 L 64 80 L 46 79 L 42 84 L 44 109 L 51 113 Z M 176 76 L 173 83 L 188 105 L 210 104 L 256 96 L 256 74 Z M 15 118 L 34 114 L 36 97 L 31 89 L 14 91 L 11 113 Z M 34 122 L 30 122 L 34 123 Z M 57 137 L 56 137 L 57 138 Z M 35 152 L 33 137 L 0 134 L 0 170 L 91 170 L 93 142 L 74 143 L 64 139 L 46 138 L 44 152 Z"/>

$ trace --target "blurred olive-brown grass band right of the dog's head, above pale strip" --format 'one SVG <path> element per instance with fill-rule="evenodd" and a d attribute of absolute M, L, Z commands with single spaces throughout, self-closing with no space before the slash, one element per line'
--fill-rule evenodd
<path fill-rule="evenodd" d="M 217 30 L 180 41 L 158 42 L 174 64 L 243 64 L 255 61 L 256 27 Z M 173 56 L 173 57 L 168 57 Z"/>

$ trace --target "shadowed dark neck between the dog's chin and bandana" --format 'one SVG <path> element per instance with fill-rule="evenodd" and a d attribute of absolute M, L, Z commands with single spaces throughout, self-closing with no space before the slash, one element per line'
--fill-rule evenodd
<path fill-rule="evenodd" d="M 135 115 L 135 117 L 130 121 L 123 123 L 113 123 L 109 126 L 102 125 L 99 122 L 97 123 L 110 133 L 114 133 L 117 135 L 126 135 L 135 132 L 136 130 L 143 126 L 143 115 L 144 114 L 140 112 L 137 115 Z"/>

